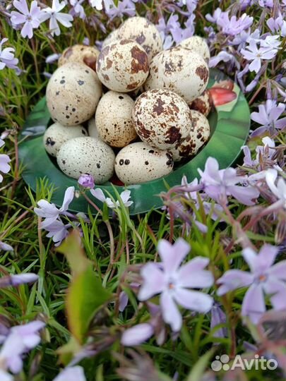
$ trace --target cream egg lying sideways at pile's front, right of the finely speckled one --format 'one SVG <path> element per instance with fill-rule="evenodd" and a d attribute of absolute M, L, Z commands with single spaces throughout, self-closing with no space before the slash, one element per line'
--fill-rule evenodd
<path fill-rule="evenodd" d="M 115 172 L 124 184 L 138 184 L 166 176 L 173 165 L 169 152 L 138 142 L 122 148 L 115 159 Z"/>

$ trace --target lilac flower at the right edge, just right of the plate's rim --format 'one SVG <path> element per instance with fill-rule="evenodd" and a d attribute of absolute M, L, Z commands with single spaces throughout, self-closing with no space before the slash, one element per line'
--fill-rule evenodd
<path fill-rule="evenodd" d="M 285 104 L 278 103 L 272 99 L 268 99 L 265 104 L 258 106 L 258 112 L 251 113 L 251 119 L 261 124 L 261 127 L 251 134 L 251 136 L 261 135 L 265 131 L 275 132 L 275 128 L 282 129 L 286 127 L 286 118 L 279 119 L 280 115 L 285 111 Z"/>

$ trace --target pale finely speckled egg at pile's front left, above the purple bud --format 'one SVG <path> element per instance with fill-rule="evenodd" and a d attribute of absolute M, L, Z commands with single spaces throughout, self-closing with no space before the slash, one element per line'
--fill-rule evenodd
<path fill-rule="evenodd" d="M 112 148 L 90 136 L 68 140 L 56 155 L 64 174 L 73 179 L 78 179 L 81 174 L 91 174 L 97 184 L 105 183 L 112 177 L 114 159 Z"/>

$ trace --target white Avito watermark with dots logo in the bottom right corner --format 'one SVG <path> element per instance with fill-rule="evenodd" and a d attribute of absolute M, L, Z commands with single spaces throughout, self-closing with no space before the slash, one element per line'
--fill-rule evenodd
<path fill-rule="evenodd" d="M 242 370 L 261 369 L 261 370 L 275 370 L 278 368 L 278 362 L 274 358 L 265 358 L 263 356 L 254 355 L 254 358 L 247 359 L 237 355 L 234 357 L 232 363 L 230 358 L 226 354 L 222 356 L 215 356 L 215 361 L 211 363 L 211 368 L 215 372 L 220 370 L 234 370 L 235 368 L 241 368 Z"/>

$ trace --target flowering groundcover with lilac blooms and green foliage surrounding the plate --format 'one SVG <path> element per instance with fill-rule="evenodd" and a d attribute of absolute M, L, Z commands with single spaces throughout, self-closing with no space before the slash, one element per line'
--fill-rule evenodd
<path fill-rule="evenodd" d="M 129 215 L 92 176 L 62 205 L 21 179 L 20 131 L 61 52 L 132 16 L 168 49 L 192 35 L 244 92 L 251 131 L 233 168 Z M 285 380 L 286 1 L 0 1 L 0 380 Z M 68 211 L 73 198 L 86 215 Z M 94 200 L 102 200 L 102 210 Z"/>

